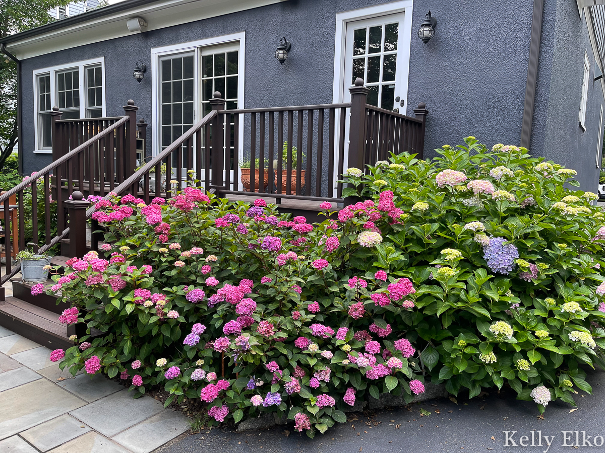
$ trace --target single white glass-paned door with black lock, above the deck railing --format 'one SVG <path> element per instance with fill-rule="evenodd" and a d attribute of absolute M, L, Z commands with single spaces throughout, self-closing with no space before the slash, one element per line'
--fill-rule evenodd
<path fill-rule="evenodd" d="M 405 13 L 396 13 L 347 23 L 342 87 L 345 102 L 350 100 L 348 88 L 361 77 L 370 89 L 368 104 L 405 112 L 407 86 L 402 81 L 406 65 L 402 54 L 406 40 L 400 33 L 404 18 Z"/>

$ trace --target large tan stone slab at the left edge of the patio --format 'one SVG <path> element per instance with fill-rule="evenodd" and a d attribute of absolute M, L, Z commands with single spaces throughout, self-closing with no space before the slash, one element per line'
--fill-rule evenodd
<path fill-rule="evenodd" d="M 86 404 L 46 379 L 5 390 L 0 397 L 0 439 Z"/>

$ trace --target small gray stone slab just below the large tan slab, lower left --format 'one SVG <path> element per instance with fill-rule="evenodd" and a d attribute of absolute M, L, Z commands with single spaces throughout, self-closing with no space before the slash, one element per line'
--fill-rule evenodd
<path fill-rule="evenodd" d="M 42 425 L 21 432 L 19 435 L 40 451 L 45 452 L 89 431 L 89 426 L 83 425 L 80 420 L 76 420 L 68 414 L 64 414 L 56 419 L 48 420 Z"/>

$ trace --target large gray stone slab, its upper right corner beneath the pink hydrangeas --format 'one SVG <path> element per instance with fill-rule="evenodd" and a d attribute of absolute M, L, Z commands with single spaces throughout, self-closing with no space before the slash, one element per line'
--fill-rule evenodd
<path fill-rule="evenodd" d="M 95 431 L 112 437 L 160 413 L 163 408 L 162 403 L 149 396 L 132 399 L 132 393 L 124 389 L 71 411 L 71 415 Z"/>

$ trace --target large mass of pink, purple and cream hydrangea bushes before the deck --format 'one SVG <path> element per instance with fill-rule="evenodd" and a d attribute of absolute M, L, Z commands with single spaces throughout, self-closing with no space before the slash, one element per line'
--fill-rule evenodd
<path fill-rule="evenodd" d="M 97 202 L 105 258 L 71 259 L 50 291 L 74 305 L 62 322 L 103 335 L 52 359 L 139 395 L 163 385 L 166 404 L 200 398 L 217 422 L 286 414 L 310 436 L 428 381 L 573 403 L 590 391 L 579 365 L 604 365 L 595 195 L 522 148 L 438 152 L 349 169 L 354 202 L 324 202 L 322 223 L 192 187 Z"/>

